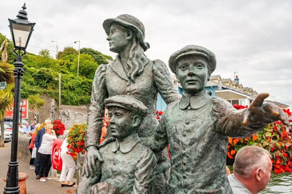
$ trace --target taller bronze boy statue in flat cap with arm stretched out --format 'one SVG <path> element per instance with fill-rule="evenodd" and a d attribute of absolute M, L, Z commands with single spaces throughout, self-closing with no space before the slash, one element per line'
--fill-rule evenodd
<path fill-rule="evenodd" d="M 241 110 L 224 99 L 211 97 L 204 88 L 215 70 L 216 59 L 204 47 L 189 45 L 176 51 L 169 67 L 184 90 L 183 97 L 168 104 L 158 129 L 145 140 L 154 152 L 169 144 L 167 193 L 231 194 L 225 169 L 228 137 L 251 137 L 277 120 L 287 125 L 288 116 L 280 107 L 263 103 L 268 94 L 260 94 Z"/>

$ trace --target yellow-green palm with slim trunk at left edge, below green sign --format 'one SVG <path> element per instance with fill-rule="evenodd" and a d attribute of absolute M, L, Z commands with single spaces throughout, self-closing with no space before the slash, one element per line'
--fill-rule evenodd
<path fill-rule="evenodd" d="M 11 87 L 10 87 L 11 88 Z M 1 138 L 0 147 L 4 147 L 4 115 L 6 109 L 10 110 L 13 101 L 13 92 L 6 88 L 4 91 L 0 90 L 0 125 L 1 125 Z M 12 99 L 11 99 L 12 97 Z"/>

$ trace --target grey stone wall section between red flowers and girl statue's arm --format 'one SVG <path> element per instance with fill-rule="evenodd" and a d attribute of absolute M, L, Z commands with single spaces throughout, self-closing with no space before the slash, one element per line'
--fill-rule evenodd
<path fill-rule="evenodd" d="M 82 124 L 87 120 L 87 108 L 85 106 L 61 105 L 59 119 L 65 124 L 66 129 L 70 129 L 73 124 Z"/>

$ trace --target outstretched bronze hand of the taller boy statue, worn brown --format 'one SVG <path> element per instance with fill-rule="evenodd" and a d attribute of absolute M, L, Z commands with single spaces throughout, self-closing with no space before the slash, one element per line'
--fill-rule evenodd
<path fill-rule="evenodd" d="M 256 123 L 271 123 L 281 120 L 285 125 L 289 124 L 288 115 L 279 106 L 273 103 L 264 102 L 269 96 L 267 93 L 258 95 L 248 108 L 246 114 L 243 115 L 242 124 L 248 126 Z"/>

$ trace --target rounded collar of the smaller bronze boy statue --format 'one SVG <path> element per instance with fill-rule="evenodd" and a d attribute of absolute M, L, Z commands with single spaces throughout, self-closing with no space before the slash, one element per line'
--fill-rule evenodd
<path fill-rule="evenodd" d="M 123 154 L 131 152 L 132 149 L 140 142 L 138 134 L 128 136 L 125 141 L 119 142 L 117 139 L 112 145 L 112 152 L 120 150 Z"/>

